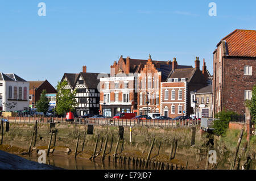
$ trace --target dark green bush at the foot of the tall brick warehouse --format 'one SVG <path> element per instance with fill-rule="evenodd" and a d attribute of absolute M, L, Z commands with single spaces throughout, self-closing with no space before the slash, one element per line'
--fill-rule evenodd
<path fill-rule="evenodd" d="M 226 132 L 226 129 L 229 128 L 229 121 L 231 121 L 232 117 L 238 116 L 236 112 L 223 110 L 221 112 L 216 113 L 214 120 L 213 128 L 214 133 L 221 136 Z"/>

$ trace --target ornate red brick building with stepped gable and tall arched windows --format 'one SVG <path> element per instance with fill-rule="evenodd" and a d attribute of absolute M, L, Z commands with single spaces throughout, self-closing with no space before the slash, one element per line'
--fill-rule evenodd
<path fill-rule="evenodd" d="M 174 61 L 154 61 L 151 56 L 138 74 L 138 111 L 140 115 L 160 112 L 160 83 L 166 81 L 170 72 L 175 69 L 192 68 L 192 66 L 177 65 Z"/>

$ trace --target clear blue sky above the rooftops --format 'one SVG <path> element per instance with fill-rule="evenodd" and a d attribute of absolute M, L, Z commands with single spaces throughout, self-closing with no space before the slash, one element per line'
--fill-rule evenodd
<path fill-rule="evenodd" d="M 46 3 L 46 16 L 38 3 Z M 217 16 L 209 16 L 210 2 Z M 236 29 L 256 30 L 256 1 L 0 1 L 0 72 L 53 86 L 64 73 L 109 73 L 123 55 L 203 58 L 213 73 L 213 50 Z"/>

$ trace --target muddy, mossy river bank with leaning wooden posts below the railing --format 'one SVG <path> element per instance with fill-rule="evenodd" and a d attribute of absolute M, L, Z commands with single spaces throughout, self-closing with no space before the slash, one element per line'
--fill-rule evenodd
<path fill-rule="evenodd" d="M 34 124 L 31 123 L 11 123 L 10 131 L 5 132 L 3 138 L 3 144 L 9 146 L 6 147 L 0 145 L 0 149 L 8 152 L 10 151 L 10 153 L 13 151 L 14 154 L 26 153 L 31 142 L 33 128 Z M 106 155 L 106 159 L 109 155 L 114 154 L 118 140 L 118 127 L 108 125 L 94 126 L 93 135 L 86 135 L 85 137 L 84 150 L 82 152 L 81 149 L 84 141 L 84 132 L 87 128 L 86 125 L 75 126 L 72 124 L 56 124 L 55 128 L 57 129 L 56 144 L 55 147 L 51 144 L 49 157 L 60 156 L 63 158 L 74 158 L 77 137 L 79 134 L 80 139 L 77 158 L 89 159 L 92 156 L 98 135 L 99 139 L 96 152 L 100 153 L 98 153 L 98 156 L 95 158 L 96 161 L 100 161 L 101 159 L 106 136 L 108 136 L 108 145 L 106 146 L 106 153 L 108 154 Z M 205 169 L 208 151 L 205 144 L 208 141 L 208 138 L 205 137 L 205 134 L 200 133 L 199 127 L 196 128 L 195 145 L 192 146 L 191 128 L 133 127 L 132 142 L 129 142 L 129 136 L 129 127 L 125 127 L 123 140 L 120 141 L 117 149 L 117 157 L 146 159 L 152 139 L 155 138 L 154 148 L 152 149 L 150 157 L 155 162 L 174 163 L 183 167 L 186 167 L 188 163 L 187 169 Z M 39 123 L 36 145 L 32 145 L 32 148 L 34 147 L 34 149 L 32 149 L 32 154 L 36 155 L 37 151 L 40 149 L 47 150 L 50 137 L 49 124 Z M 113 143 L 111 144 L 112 138 Z M 177 140 L 177 150 L 175 158 L 169 161 L 174 138 Z M 235 137 L 233 139 L 234 142 L 237 142 Z M 55 140 L 54 136 L 52 140 Z M 244 141 L 245 140 L 242 140 L 241 147 L 243 146 Z M 222 145 L 220 143 L 222 143 Z M 13 145 L 13 149 L 10 149 L 11 145 Z M 228 158 L 233 154 L 231 149 L 232 146 L 226 146 L 229 147 L 226 148 L 226 150 L 223 149 L 225 146 L 226 144 L 223 146 L 223 141 L 221 141 L 220 138 L 214 138 L 214 149 L 217 151 L 217 155 L 220 155 L 218 157 L 220 159 L 218 159 L 217 169 L 228 169 L 229 167 L 230 163 Z M 7 149 L 8 147 L 9 149 Z M 53 151 L 53 153 L 51 153 L 51 151 Z M 209 169 L 216 169 L 216 164 L 211 165 Z"/>

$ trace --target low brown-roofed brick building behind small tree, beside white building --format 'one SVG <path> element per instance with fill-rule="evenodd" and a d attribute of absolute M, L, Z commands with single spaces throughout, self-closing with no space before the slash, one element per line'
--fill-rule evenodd
<path fill-rule="evenodd" d="M 56 90 L 47 80 L 45 81 L 29 81 L 30 91 L 29 100 L 30 108 L 36 107 L 36 102 L 40 99 L 43 90 L 46 90 L 48 99 L 50 100 L 50 106 L 56 106 Z M 54 103 L 55 102 L 55 103 Z"/>

